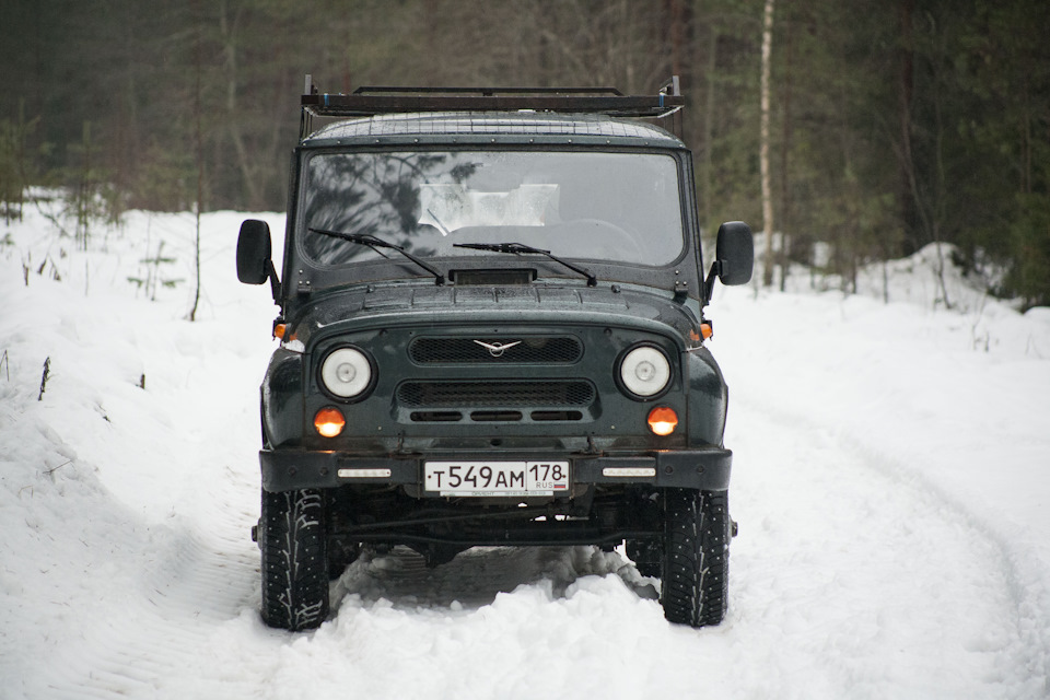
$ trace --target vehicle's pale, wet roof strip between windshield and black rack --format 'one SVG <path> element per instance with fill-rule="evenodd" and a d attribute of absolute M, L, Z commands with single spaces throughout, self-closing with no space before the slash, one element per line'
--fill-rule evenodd
<path fill-rule="evenodd" d="M 559 114 L 550 112 L 447 112 L 393 114 L 347 119 L 327 125 L 303 139 L 303 144 L 327 144 L 346 139 L 401 137 L 501 137 L 501 141 L 522 137 L 556 140 L 565 137 L 634 142 L 663 148 L 685 148 L 668 131 L 635 119 L 620 119 L 600 114 Z M 502 138 L 508 137 L 508 138 Z M 638 143 L 640 142 L 640 143 Z"/>

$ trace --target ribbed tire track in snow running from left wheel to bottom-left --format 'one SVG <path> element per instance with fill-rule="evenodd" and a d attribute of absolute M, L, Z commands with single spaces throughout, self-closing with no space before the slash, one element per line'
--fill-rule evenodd
<path fill-rule="evenodd" d="M 231 518 L 226 530 L 180 524 L 121 542 L 112 595 L 84 611 L 82 639 L 56 649 L 55 673 L 32 679 L 27 697 L 178 697 L 208 665 L 215 634 L 258 605 L 258 562 L 229 534 L 244 539 L 243 523 Z"/>

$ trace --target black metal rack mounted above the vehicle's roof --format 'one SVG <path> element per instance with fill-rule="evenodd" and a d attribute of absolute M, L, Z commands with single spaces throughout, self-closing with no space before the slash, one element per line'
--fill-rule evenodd
<path fill-rule="evenodd" d="M 312 117 L 372 117 L 416 112 L 559 112 L 662 119 L 681 109 L 685 98 L 673 75 L 655 95 L 625 95 L 616 88 L 359 88 L 347 95 L 319 93 L 306 75 L 300 138 Z"/>

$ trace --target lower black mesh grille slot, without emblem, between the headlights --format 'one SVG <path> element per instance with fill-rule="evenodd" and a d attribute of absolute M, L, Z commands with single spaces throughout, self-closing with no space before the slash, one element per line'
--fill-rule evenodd
<path fill-rule="evenodd" d="M 576 380 L 544 382 L 405 382 L 397 400 L 407 408 L 587 406 L 594 387 Z"/>

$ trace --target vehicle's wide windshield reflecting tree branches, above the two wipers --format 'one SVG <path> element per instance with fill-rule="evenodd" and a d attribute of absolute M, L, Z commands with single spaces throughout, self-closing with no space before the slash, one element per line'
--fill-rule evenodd
<path fill-rule="evenodd" d="M 677 164 L 656 153 L 319 152 L 303 192 L 300 245 L 327 266 L 390 253 L 308 229 L 374 235 L 419 257 L 486 255 L 454 244 L 513 242 L 662 266 L 684 244 Z"/>

